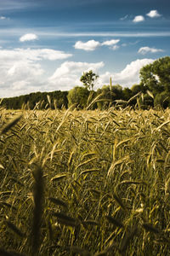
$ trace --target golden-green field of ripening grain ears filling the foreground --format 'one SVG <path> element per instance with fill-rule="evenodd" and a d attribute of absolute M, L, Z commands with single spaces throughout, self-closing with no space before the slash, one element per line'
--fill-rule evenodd
<path fill-rule="evenodd" d="M 0 255 L 170 254 L 170 110 L 0 116 Z"/>

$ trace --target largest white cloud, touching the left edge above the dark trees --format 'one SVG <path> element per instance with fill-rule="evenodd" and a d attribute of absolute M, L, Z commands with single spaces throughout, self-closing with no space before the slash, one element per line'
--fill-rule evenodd
<path fill-rule="evenodd" d="M 47 74 L 41 61 L 63 60 L 71 55 L 54 49 L 0 49 L 0 96 L 18 96 L 43 90 Z"/>

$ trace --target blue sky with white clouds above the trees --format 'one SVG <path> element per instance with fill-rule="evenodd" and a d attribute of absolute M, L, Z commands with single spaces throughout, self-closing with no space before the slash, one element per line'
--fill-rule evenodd
<path fill-rule="evenodd" d="M 169 0 L 0 0 L 0 97 L 71 90 L 83 72 L 131 88 L 170 55 Z"/>

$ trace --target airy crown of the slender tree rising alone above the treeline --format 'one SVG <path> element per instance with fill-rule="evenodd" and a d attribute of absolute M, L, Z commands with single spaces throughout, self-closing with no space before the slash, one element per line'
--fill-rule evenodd
<path fill-rule="evenodd" d="M 94 83 L 99 78 L 99 75 L 95 74 L 92 70 L 82 74 L 80 81 L 88 90 L 94 90 Z"/>

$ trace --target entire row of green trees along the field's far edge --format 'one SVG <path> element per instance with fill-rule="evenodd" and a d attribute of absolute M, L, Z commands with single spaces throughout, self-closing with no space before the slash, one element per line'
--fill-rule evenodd
<path fill-rule="evenodd" d="M 38 108 L 61 109 L 74 104 L 77 109 L 107 109 L 111 106 L 128 105 L 139 108 L 160 106 L 170 107 L 170 57 L 160 58 L 140 69 L 140 83 L 131 88 L 122 88 L 120 84 L 109 84 L 94 90 L 99 76 L 92 70 L 82 74 L 82 86 L 69 91 L 35 92 L 25 96 L 3 99 L 7 109 Z"/>

